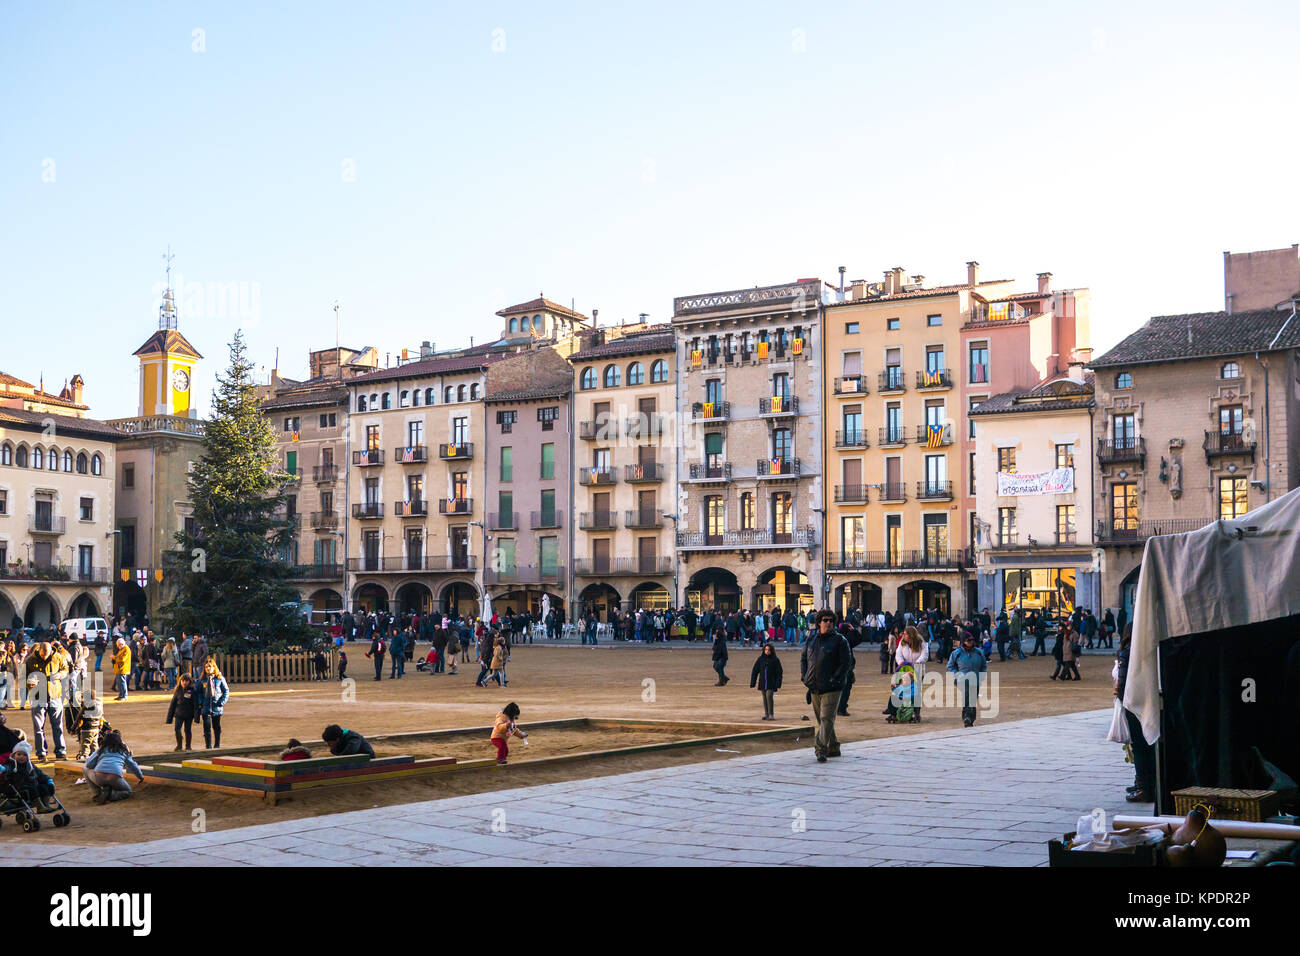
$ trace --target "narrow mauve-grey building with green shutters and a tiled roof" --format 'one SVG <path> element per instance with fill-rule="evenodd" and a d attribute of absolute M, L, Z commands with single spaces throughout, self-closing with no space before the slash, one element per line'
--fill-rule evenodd
<path fill-rule="evenodd" d="M 482 580 L 498 613 L 567 606 L 572 378 L 554 347 L 488 368 Z"/>

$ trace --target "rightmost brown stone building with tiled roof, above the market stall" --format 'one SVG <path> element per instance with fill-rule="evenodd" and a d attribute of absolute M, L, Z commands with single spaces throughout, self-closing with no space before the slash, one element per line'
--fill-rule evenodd
<path fill-rule="evenodd" d="M 1300 484 L 1295 306 L 1156 316 L 1092 363 L 1104 606 L 1131 619 L 1148 537 Z"/>

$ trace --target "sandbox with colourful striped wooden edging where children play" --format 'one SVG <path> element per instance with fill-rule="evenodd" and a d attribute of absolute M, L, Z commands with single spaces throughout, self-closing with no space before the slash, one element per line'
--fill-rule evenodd
<path fill-rule="evenodd" d="M 261 797 L 274 805 L 290 795 L 322 787 L 376 783 L 428 774 L 520 767 L 581 761 L 681 747 L 740 743 L 800 732 L 801 727 L 694 721 L 624 721 L 568 718 L 526 724 L 529 744 L 511 740 L 510 763 L 499 765 L 489 743 L 490 727 L 416 731 L 369 736 L 374 758 L 333 757 L 324 744 L 311 760 L 281 761 L 281 745 L 202 750 L 202 756 L 160 753 L 136 757 L 153 784 Z M 325 754 L 325 756 L 320 756 Z M 60 761 L 57 770 L 81 773 L 81 763 Z"/>

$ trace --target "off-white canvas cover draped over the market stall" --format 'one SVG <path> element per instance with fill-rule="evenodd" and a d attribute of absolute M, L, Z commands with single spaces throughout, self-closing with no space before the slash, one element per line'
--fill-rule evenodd
<path fill-rule="evenodd" d="M 1300 614 L 1300 488 L 1231 522 L 1147 541 L 1124 706 L 1143 736 L 1160 737 L 1157 648 Z"/>

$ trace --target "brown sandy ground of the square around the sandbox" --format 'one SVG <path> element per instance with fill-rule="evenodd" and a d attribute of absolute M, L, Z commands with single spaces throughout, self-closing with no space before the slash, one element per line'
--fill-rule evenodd
<path fill-rule="evenodd" d="M 294 736 L 315 752 L 324 747 L 320 732 L 328 723 L 339 723 L 365 735 L 486 727 L 500 706 L 511 700 L 521 709 L 520 726 L 525 730 L 529 721 L 569 717 L 760 723 L 760 697 L 757 691 L 749 689 L 749 671 L 755 656 L 757 652 L 751 648 L 732 648 L 728 667 L 732 680 L 727 687 L 714 687 L 716 678 L 710 654 L 703 648 L 525 645 L 514 649 L 507 667 L 510 685 L 503 689 L 495 685 L 484 689 L 474 687 L 478 669 L 473 665 L 462 665 L 458 675 L 437 676 L 420 674 L 412 665 L 403 679 L 389 680 L 385 662 L 385 679 L 374 682 L 373 665 L 367 667 L 369 662 L 361 652 L 350 649 L 348 670 L 356 678 L 355 685 L 350 688 L 354 700 L 344 700 L 347 695 L 338 683 L 237 684 L 231 688 L 231 698 L 226 705 L 221 743 L 224 747 L 283 747 L 283 741 Z M 722 748 L 706 744 L 534 767 L 521 760 L 525 748 L 516 740 L 511 747 L 511 756 L 516 760 L 504 770 L 446 773 L 411 780 L 322 790 L 283 800 L 277 806 L 268 806 L 252 797 L 157 784 L 139 787 L 136 795 L 125 803 L 95 806 L 84 784 L 74 786 L 72 775 L 58 774 L 58 795 L 72 814 L 72 825 L 56 830 L 48 822 L 49 818 L 43 817 L 40 832 L 23 834 L 12 819 L 5 819 L 0 843 L 36 840 L 112 844 L 182 836 L 192 831 L 195 810 L 200 809 L 207 829 L 217 830 L 478 792 L 485 793 L 485 803 L 497 805 L 502 796 L 486 796 L 488 793 L 736 756 L 727 750 L 749 756 L 806 748 L 810 747 L 812 724 L 801 719 L 810 715 L 810 708 L 803 702 L 803 688 L 798 683 L 798 653 L 783 652 L 781 661 L 786 688 L 776 695 L 776 726 L 801 724 L 809 728 L 805 735 L 753 740 Z M 852 715 L 836 722 L 842 741 L 961 727 L 959 706 L 924 708 L 924 719 L 918 724 L 885 723 L 880 709 L 888 697 L 889 679 L 879 672 L 880 665 L 874 650 L 859 648 L 857 662 L 858 683 L 849 702 Z M 997 714 L 991 717 L 982 713 L 980 722 L 1017 721 L 1110 705 L 1109 657 L 1084 658 L 1080 665 L 1083 680 L 1079 683 L 1048 680 L 1052 666 L 1050 657 L 993 663 L 991 676 L 996 675 L 997 680 Z M 932 663 L 931 672 L 936 669 L 937 665 Z M 991 683 L 989 687 L 992 685 Z M 110 702 L 107 715 L 122 731 L 135 753 L 160 753 L 169 752 L 176 743 L 172 728 L 165 723 L 166 708 L 166 693 L 142 692 L 133 693 L 125 702 Z M 6 717 L 10 726 L 23 727 L 31 736 L 27 714 L 10 709 Z M 202 731 L 198 727 L 195 730 L 195 744 L 202 748 Z M 491 756 L 486 734 L 482 736 L 481 748 L 471 740 L 458 744 L 458 752 L 450 756 L 459 756 L 462 745 L 474 756 Z M 589 736 L 593 737 L 590 749 L 607 749 L 625 739 L 623 734 Z M 555 748 L 560 747 L 572 749 L 575 743 L 556 735 L 554 743 L 549 744 L 542 731 L 530 735 L 530 740 L 532 744 L 526 748 L 529 757 L 547 756 L 547 749 L 554 754 L 558 752 Z M 196 749 L 192 756 L 202 756 L 202 750 Z"/>

